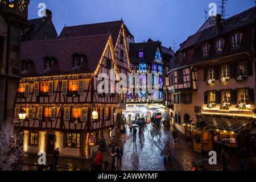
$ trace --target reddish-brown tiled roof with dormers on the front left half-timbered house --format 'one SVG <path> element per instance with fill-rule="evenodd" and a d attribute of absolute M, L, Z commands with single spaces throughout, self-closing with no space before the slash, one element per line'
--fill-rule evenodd
<path fill-rule="evenodd" d="M 79 36 L 72 38 L 58 38 L 40 41 L 24 42 L 21 45 L 21 60 L 29 59 L 33 62 L 24 77 L 53 76 L 65 74 L 93 73 L 100 61 L 109 34 L 94 36 Z M 80 52 L 85 59 L 79 69 L 72 69 L 72 55 Z M 45 56 L 55 57 L 51 71 L 44 72 Z"/>

